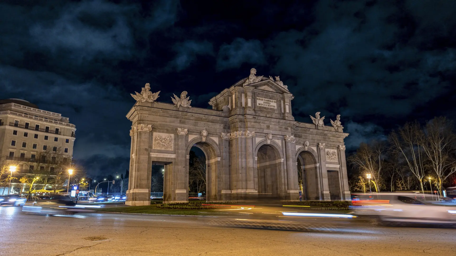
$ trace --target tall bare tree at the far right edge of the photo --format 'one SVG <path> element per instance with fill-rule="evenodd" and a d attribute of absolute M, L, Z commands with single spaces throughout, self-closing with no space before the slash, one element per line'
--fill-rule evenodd
<path fill-rule="evenodd" d="M 445 117 L 434 118 L 426 124 L 424 135 L 421 144 L 437 175 L 437 189 L 442 194 L 443 182 L 456 172 L 456 160 L 453 157 L 456 134 L 453 123 Z"/>

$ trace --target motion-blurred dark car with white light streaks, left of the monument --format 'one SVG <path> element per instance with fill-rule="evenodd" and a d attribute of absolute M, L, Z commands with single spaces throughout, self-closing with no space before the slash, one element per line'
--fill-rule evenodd
<path fill-rule="evenodd" d="M 68 195 L 40 195 L 32 205 L 22 206 L 22 211 L 45 215 L 73 215 L 76 212 L 92 212 L 97 206 L 77 205 Z"/>

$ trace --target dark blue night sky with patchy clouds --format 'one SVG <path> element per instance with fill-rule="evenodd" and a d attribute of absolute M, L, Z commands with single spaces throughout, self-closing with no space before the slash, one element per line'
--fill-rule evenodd
<path fill-rule="evenodd" d="M 149 82 L 160 102 L 186 90 L 210 108 L 255 67 L 288 85 L 297 121 L 341 114 L 350 151 L 456 119 L 455 35 L 453 0 L 3 0 L 0 98 L 70 118 L 74 160 L 97 176 L 128 168 L 130 93 Z"/>

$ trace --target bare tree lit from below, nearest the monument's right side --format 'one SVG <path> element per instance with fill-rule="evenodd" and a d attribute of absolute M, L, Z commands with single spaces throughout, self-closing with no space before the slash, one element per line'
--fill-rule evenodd
<path fill-rule="evenodd" d="M 361 143 L 356 154 L 348 158 L 348 161 L 355 166 L 360 173 L 371 174 L 375 191 L 379 191 L 383 180 L 381 172 L 384 162 L 384 143 L 373 141 L 371 145 Z"/>

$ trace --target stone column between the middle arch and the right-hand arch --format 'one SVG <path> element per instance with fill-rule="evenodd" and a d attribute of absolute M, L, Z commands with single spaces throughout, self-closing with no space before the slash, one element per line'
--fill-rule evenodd
<path fill-rule="evenodd" d="M 296 169 L 295 136 L 285 135 L 285 159 L 287 170 L 287 200 L 299 201 L 298 170 Z"/>

